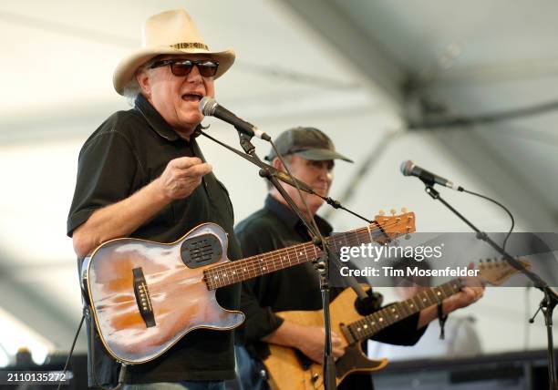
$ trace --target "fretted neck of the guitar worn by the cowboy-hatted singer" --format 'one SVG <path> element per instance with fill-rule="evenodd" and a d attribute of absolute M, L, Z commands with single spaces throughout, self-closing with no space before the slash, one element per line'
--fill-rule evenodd
<path fill-rule="evenodd" d="M 373 224 L 368 225 L 366 228 L 336 233 L 325 240 L 333 251 L 339 253 L 340 248 L 343 246 L 356 246 L 362 243 L 380 241 L 382 238 L 386 238 L 385 233 L 373 222 Z M 324 251 L 308 241 L 236 262 L 225 262 L 210 267 L 203 272 L 204 281 L 209 290 L 214 290 L 262 276 L 266 273 L 283 270 L 303 262 L 310 262 L 320 257 L 323 253 Z"/>

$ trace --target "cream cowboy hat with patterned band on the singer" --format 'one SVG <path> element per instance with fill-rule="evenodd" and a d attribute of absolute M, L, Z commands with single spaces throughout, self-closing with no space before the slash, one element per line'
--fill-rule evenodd
<path fill-rule="evenodd" d="M 112 82 L 120 95 L 138 67 L 160 55 L 207 55 L 219 62 L 217 74 L 221 77 L 234 62 L 234 51 L 212 52 L 205 45 L 198 28 L 183 9 L 166 11 L 151 16 L 143 25 L 141 48 L 123 58 L 114 70 Z"/>

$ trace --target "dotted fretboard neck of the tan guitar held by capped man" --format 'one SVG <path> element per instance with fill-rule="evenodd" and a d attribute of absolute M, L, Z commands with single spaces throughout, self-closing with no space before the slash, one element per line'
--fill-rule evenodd
<path fill-rule="evenodd" d="M 392 323 L 397 323 L 433 304 L 441 303 L 449 296 L 460 292 L 461 287 L 460 279 L 454 279 L 438 287 L 418 292 L 406 301 L 391 304 L 382 310 L 368 314 L 360 320 L 346 325 L 347 340 L 350 344 L 364 341 Z"/>

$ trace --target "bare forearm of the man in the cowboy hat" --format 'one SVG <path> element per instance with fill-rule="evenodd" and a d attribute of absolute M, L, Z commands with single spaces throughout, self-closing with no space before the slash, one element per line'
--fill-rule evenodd
<path fill-rule="evenodd" d="M 171 200 L 160 191 L 158 180 L 124 200 L 93 212 L 73 233 L 78 257 L 86 256 L 102 242 L 128 236 L 169 204 Z"/>

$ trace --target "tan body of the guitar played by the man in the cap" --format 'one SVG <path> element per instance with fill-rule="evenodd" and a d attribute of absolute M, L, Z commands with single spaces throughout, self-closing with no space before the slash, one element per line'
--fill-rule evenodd
<path fill-rule="evenodd" d="M 370 373 L 387 365 L 387 359 L 370 360 L 362 352 L 360 344 L 349 345 L 346 342 L 341 325 L 353 323 L 362 318 L 355 309 L 356 293 L 347 288 L 329 305 L 332 331 L 343 340 L 345 354 L 336 361 L 337 385 L 351 373 Z M 293 323 L 307 326 L 324 326 L 322 310 L 290 311 L 277 313 L 280 317 Z M 324 389 L 322 364 L 301 359 L 301 354 L 293 348 L 269 344 L 271 354 L 263 361 L 271 380 L 270 384 L 277 390 Z"/>

